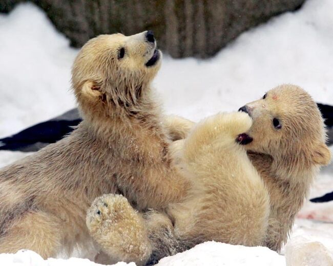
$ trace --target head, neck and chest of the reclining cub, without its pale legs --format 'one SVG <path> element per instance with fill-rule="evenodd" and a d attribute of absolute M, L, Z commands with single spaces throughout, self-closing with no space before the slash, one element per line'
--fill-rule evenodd
<path fill-rule="evenodd" d="M 265 246 L 279 251 L 287 240 L 321 165 L 330 162 L 324 122 L 314 100 L 302 88 L 281 85 L 246 104 L 253 126 L 245 145 L 270 196 Z M 280 121 L 276 129 L 273 119 Z"/>

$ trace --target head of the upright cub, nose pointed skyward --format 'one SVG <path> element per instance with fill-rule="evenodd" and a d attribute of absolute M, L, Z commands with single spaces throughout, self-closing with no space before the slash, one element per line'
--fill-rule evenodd
<path fill-rule="evenodd" d="M 144 102 L 161 57 L 152 31 L 89 40 L 72 69 L 74 92 L 84 116 L 110 115 L 116 107 L 131 108 Z"/>

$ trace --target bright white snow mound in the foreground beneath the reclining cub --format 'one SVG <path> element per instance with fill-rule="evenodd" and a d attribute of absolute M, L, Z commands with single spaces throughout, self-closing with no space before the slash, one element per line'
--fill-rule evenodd
<path fill-rule="evenodd" d="M 161 259 L 157 266 L 284 266 L 285 259 L 265 247 L 205 242 L 191 250 Z"/>

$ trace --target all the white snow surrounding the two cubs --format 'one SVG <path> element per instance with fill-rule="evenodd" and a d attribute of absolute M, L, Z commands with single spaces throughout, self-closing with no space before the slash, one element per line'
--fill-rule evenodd
<path fill-rule="evenodd" d="M 220 110 L 238 109 L 281 83 L 301 85 L 316 101 L 333 104 L 332 10 L 332 0 L 307 0 L 297 12 L 282 14 L 241 34 L 209 60 L 176 60 L 164 55 L 154 85 L 165 112 L 197 121 Z M 70 68 L 76 53 L 44 12 L 32 4 L 19 5 L 9 15 L 0 14 L 0 138 L 75 106 Z M 1 151 L 0 166 L 26 155 Z M 330 165 L 321 172 L 311 196 L 332 190 Z M 333 252 L 333 202 L 306 203 L 299 217 L 303 219 L 297 219 L 293 235 L 318 240 Z M 78 260 L 43 262 L 32 254 L 0 254 L 0 264 L 88 265 Z M 252 265 L 248 254 L 262 259 L 256 265 L 285 265 L 278 254 L 264 248 L 211 242 L 163 259 L 159 265 Z M 229 263 L 231 255 L 244 264 Z"/>

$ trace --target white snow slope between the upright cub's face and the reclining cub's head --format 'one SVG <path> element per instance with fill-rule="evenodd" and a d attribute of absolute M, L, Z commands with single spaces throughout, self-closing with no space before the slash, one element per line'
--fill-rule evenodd
<path fill-rule="evenodd" d="M 166 110 L 198 120 L 237 110 L 281 83 L 333 104 L 332 10 L 331 0 L 308 0 L 241 34 L 210 60 L 164 57 L 155 83 Z"/>

